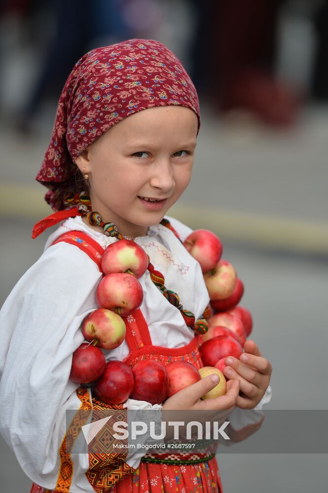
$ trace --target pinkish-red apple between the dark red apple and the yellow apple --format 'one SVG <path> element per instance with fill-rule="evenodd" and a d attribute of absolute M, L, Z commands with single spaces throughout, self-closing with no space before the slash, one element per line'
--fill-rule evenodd
<path fill-rule="evenodd" d="M 175 361 L 165 366 L 165 369 L 168 378 L 167 398 L 200 380 L 197 368 L 187 361 Z"/>

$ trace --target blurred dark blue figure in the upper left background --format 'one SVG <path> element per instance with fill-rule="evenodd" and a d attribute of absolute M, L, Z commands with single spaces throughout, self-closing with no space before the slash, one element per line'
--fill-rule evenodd
<path fill-rule="evenodd" d="M 86 0 L 58 0 L 46 5 L 37 0 L 4 2 L 2 13 L 16 14 L 28 25 L 28 30 L 35 27 L 35 17 L 42 24 L 50 23 L 49 29 L 52 29 L 49 39 L 44 38 L 45 31 L 40 27 L 36 34 L 38 48 L 45 44 L 44 62 L 31 94 L 17 116 L 17 130 L 22 133 L 32 131 L 33 121 L 43 103 L 58 100 L 67 74 L 86 50 L 133 37 L 131 26 L 124 17 L 124 9 L 130 2 L 94 0 L 91 8 Z"/>

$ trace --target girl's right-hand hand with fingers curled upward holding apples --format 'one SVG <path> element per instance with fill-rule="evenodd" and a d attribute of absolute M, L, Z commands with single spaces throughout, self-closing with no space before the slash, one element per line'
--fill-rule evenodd
<path fill-rule="evenodd" d="M 240 358 L 229 356 L 224 374 L 229 379 L 240 381 L 240 394 L 236 399 L 236 406 L 241 409 L 253 409 L 259 404 L 267 389 L 272 373 L 270 362 L 262 354 L 254 341 L 247 340 L 244 344 L 245 352 Z"/>

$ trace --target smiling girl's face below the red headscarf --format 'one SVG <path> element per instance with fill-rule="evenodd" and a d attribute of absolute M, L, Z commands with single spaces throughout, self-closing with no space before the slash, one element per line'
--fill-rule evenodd
<path fill-rule="evenodd" d="M 146 235 L 186 189 L 196 135 L 197 116 L 184 106 L 144 109 L 114 125 L 76 158 L 90 174 L 92 210 L 123 235 Z"/>

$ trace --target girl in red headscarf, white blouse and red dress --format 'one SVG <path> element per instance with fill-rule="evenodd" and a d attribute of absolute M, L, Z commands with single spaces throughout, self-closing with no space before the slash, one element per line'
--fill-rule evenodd
<path fill-rule="evenodd" d="M 81 322 L 97 308 L 99 257 L 111 243 L 127 237 L 142 246 L 180 305 L 146 271 L 141 309 L 126 318 L 124 342 L 103 351 L 106 360 L 132 366 L 144 358 L 164 365 L 184 359 L 202 366 L 197 331 L 208 316 L 207 289 L 180 241 L 191 230 L 164 218 L 190 181 L 199 124 L 192 81 L 157 41 L 92 50 L 66 81 L 36 178 L 49 188 L 46 200 L 56 212 L 35 225 L 33 236 L 62 222 L 1 312 L 1 433 L 33 480 L 31 493 L 221 491 L 212 456 L 70 455 L 65 440 L 66 410 L 113 407 L 69 380 L 72 353 L 84 339 Z M 163 409 L 257 406 L 271 365 L 254 342 L 245 343 L 245 352 L 245 362 L 232 358 L 226 395 L 201 401 L 217 384 L 207 377 L 167 399 Z M 161 407 L 133 399 L 116 406 Z"/>

